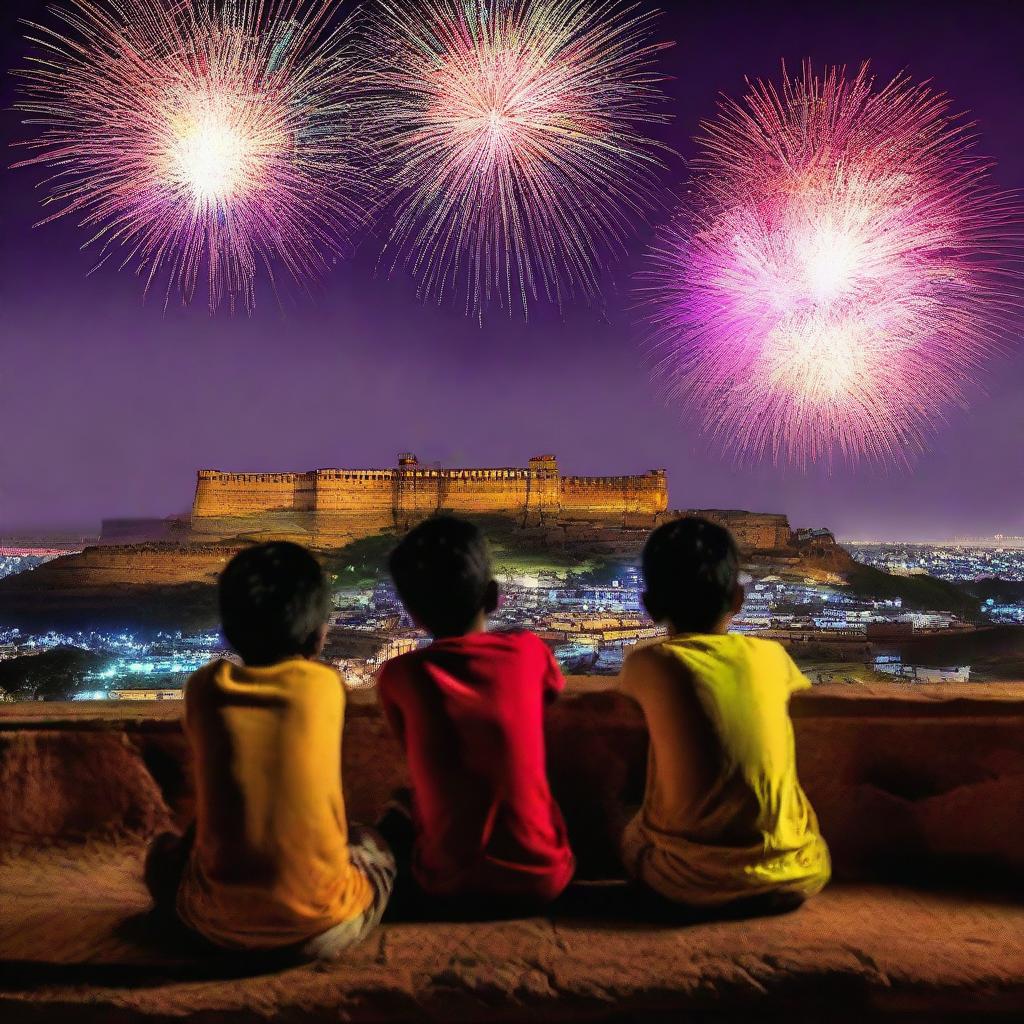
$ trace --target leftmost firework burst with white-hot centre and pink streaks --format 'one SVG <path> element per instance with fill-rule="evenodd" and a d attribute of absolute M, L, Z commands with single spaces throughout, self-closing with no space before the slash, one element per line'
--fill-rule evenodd
<path fill-rule="evenodd" d="M 252 310 L 259 270 L 306 284 L 366 220 L 365 133 L 340 0 L 72 0 L 16 74 L 52 173 L 41 223 L 76 217 L 148 290 Z M 333 26 L 333 27 L 332 27 Z"/>

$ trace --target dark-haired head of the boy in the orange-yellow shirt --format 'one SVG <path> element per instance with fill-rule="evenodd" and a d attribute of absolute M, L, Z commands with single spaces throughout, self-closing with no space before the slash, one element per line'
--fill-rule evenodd
<path fill-rule="evenodd" d="M 315 654 L 331 612 L 319 562 L 287 541 L 240 551 L 220 573 L 217 597 L 224 637 L 247 665 Z"/>

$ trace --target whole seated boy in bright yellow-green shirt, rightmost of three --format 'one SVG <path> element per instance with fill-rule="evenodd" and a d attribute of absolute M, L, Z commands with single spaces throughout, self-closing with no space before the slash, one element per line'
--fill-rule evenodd
<path fill-rule="evenodd" d="M 738 570 L 732 537 L 705 519 L 667 523 L 644 548 L 644 605 L 670 635 L 634 651 L 620 680 L 650 734 L 623 859 L 674 903 L 772 912 L 819 892 L 830 867 L 788 713 L 810 683 L 780 644 L 726 632 L 743 600 Z"/>

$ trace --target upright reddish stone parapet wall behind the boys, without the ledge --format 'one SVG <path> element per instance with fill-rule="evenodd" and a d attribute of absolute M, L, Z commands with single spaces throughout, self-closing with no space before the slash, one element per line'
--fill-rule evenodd
<path fill-rule="evenodd" d="M 640 802 L 646 731 L 606 678 L 570 679 L 548 717 L 549 764 L 584 877 L 614 873 Z M 591 692 L 585 692 L 590 690 Z M 838 878 L 1024 871 L 1024 684 L 815 687 L 793 701 L 801 779 Z M 148 835 L 191 814 L 180 705 L 0 706 L 0 843 Z M 346 725 L 350 813 L 403 784 L 373 694 Z"/>

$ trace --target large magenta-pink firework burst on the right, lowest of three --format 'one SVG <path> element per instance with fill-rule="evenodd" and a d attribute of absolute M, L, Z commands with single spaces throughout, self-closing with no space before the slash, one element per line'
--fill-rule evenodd
<path fill-rule="evenodd" d="M 660 375 L 727 450 L 907 463 L 966 403 L 1017 308 L 1019 215 L 949 105 L 805 66 L 702 126 L 643 295 Z"/>

